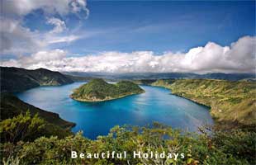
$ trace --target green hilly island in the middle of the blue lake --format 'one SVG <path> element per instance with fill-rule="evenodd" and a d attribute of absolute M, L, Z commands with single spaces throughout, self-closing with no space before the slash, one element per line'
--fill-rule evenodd
<path fill-rule="evenodd" d="M 121 81 L 111 84 L 102 78 L 96 78 L 75 89 L 70 97 L 77 101 L 109 101 L 143 92 L 145 91 L 134 82 Z"/>

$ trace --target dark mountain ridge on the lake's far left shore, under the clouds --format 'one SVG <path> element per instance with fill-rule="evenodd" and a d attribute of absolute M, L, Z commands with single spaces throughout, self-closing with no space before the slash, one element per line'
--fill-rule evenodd
<path fill-rule="evenodd" d="M 27 70 L 25 68 L 1 67 L 1 92 L 22 92 L 32 87 L 64 85 L 73 80 L 59 72 L 45 68 Z"/>

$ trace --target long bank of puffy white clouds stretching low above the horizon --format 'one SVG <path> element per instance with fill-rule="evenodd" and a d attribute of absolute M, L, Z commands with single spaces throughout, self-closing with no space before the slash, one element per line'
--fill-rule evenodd
<path fill-rule="evenodd" d="M 2 61 L 2 66 L 22 68 L 49 68 L 56 71 L 77 72 L 194 72 L 243 73 L 255 70 L 255 36 L 244 36 L 230 46 L 213 42 L 192 48 L 187 53 L 152 51 L 102 52 L 68 57 L 64 50 L 40 51 L 21 59 Z"/>

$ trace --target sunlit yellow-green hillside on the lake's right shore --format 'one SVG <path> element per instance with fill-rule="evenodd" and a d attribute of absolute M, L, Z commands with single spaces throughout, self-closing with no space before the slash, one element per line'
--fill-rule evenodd
<path fill-rule="evenodd" d="M 256 124 L 255 82 L 186 79 L 175 80 L 168 88 L 173 94 L 211 106 L 211 115 L 219 124 Z"/>

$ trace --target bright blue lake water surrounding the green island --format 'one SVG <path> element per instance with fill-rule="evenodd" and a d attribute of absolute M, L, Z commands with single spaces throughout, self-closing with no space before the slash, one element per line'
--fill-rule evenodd
<path fill-rule="evenodd" d="M 96 139 L 115 125 L 148 125 L 154 121 L 188 131 L 197 131 L 213 120 L 206 106 L 171 94 L 163 87 L 141 86 L 145 93 L 113 101 L 80 102 L 69 98 L 72 90 L 84 82 L 59 87 L 36 87 L 17 94 L 22 101 L 46 111 L 53 111 L 77 125 L 73 132 Z"/>

